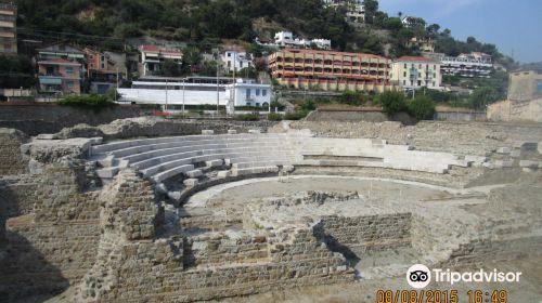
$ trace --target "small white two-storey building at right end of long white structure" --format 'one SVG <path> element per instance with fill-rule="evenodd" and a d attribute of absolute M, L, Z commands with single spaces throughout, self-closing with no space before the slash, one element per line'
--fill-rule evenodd
<path fill-rule="evenodd" d="M 257 83 L 255 80 L 237 79 L 235 84 L 225 85 L 228 107 L 257 106 L 268 107 L 271 104 L 271 85 Z"/>

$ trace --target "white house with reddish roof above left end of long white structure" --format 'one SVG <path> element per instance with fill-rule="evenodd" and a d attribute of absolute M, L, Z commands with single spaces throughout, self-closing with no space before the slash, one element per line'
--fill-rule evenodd
<path fill-rule="evenodd" d="M 141 45 L 139 74 L 141 76 L 158 76 L 162 73 L 162 64 L 166 60 L 182 65 L 182 52 L 180 50 L 167 49 L 157 45 Z"/>

